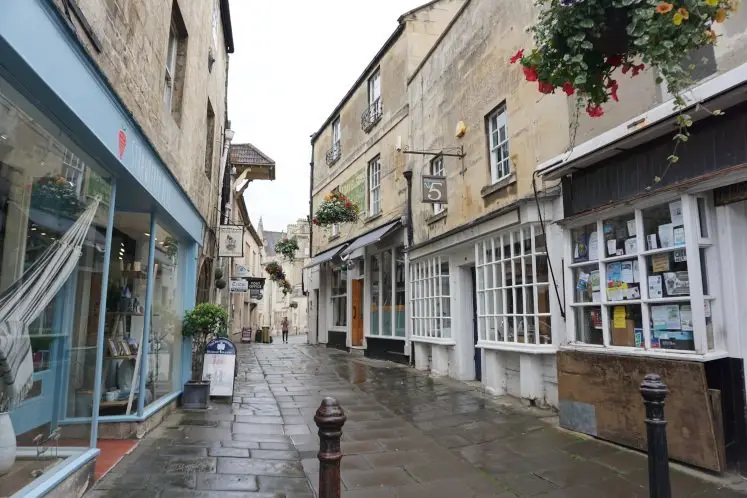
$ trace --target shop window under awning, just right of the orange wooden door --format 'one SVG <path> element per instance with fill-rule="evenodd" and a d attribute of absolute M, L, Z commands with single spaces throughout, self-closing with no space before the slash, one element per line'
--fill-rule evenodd
<path fill-rule="evenodd" d="M 387 249 L 371 256 L 369 336 L 405 337 L 404 248 Z"/>

